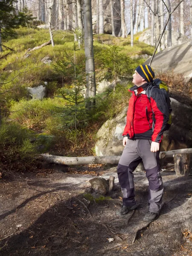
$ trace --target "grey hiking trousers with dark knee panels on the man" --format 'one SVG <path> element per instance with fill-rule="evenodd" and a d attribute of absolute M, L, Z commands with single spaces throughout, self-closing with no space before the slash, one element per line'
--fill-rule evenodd
<path fill-rule="evenodd" d="M 123 205 L 133 206 L 135 201 L 134 170 L 143 160 L 148 178 L 149 211 L 158 213 L 161 208 L 163 182 L 160 175 L 159 151 L 151 152 L 151 140 L 128 140 L 117 166 Z"/>

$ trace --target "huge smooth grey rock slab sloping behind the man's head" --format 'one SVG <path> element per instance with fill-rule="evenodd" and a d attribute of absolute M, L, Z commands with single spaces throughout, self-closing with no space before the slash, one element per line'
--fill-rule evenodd
<path fill-rule="evenodd" d="M 145 61 L 149 64 L 151 58 Z M 192 78 L 192 42 L 175 45 L 158 52 L 153 59 L 152 67 L 155 71 L 174 70 L 182 73 L 189 80 Z"/>

